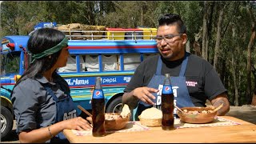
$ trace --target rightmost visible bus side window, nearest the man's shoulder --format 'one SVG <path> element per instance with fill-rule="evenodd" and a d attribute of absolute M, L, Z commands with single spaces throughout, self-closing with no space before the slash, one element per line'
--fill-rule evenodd
<path fill-rule="evenodd" d="M 140 54 L 123 54 L 124 70 L 136 70 L 141 63 Z"/>

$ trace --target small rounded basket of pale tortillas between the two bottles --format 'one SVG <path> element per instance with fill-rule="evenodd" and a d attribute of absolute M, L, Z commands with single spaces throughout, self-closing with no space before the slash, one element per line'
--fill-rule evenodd
<path fill-rule="evenodd" d="M 143 110 L 142 114 L 138 116 L 138 119 L 143 126 L 162 126 L 162 111 L 151 107 Z"/>

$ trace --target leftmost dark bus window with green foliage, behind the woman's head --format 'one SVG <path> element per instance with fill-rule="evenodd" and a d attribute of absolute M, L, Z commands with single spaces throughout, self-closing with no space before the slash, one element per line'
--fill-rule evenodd
<path fill-rule="evenodd" d="M 17 74 L 19 70 L 20 51 L 1 54 L 1 74 Z"/>

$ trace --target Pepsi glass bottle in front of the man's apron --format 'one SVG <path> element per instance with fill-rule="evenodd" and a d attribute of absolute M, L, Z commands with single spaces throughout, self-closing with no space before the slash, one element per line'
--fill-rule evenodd
<path fill-rule="evenodd" d="M 161 99 L 162 130 L 174 130 L 174 93 L 170 83 L 170 74 L 165 74 Z"/>

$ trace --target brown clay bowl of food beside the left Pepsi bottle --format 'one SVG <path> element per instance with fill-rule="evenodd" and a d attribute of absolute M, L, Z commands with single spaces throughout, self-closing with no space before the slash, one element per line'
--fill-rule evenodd
<path fill-rule="evenodd" d="M 126 118 L 118 113 L 106 113 L 105 114 L 105 129 L 106 130 L 121 130 L 126 127 L 126 124 L 130 121 L 130 114 Z"/>

